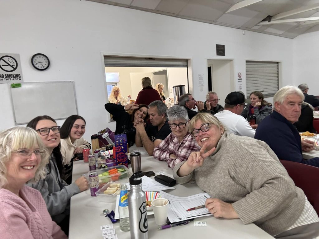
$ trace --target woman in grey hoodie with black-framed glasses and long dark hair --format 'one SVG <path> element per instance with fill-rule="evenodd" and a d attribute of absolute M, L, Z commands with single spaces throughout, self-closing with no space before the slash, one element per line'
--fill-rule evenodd
<path fill-rule="evenodd" d="M 70 198 L 76 193 L 88 189 L 88 181 L 80 177 L 68 185 L 63 180 L 63 160 L 60 152 L 60 126 L 48 115 L 38 116 L 31 120 L 26 127 L 38 132 L 49 154 L 49 163 L 46 165 L 46 177 L 39 182 L 28 183 L 29 186 L 41 192 L 47 204 L 48 212 L 68 235 Z"/>

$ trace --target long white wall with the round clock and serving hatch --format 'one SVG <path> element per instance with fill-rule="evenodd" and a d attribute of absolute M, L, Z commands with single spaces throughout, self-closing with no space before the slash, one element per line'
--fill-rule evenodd
<path fill-rule="evenodd" d="M 87 139 L 109 125 L 103 53 L 191 59 L 195 98 L 208 91 L 207 85 L 200 91 L 196 76 L 204 74 L 207 82 L 207 59 L 217 58 L 216 44 L 226 48 L 219 58 L 234 59 L 234 79 L 238 72 L 245 79 L 245 60 L 282 61 L 284 84 L 294 75 L 291 39 L 79 0 L 1 0 L 1 10 L 0 52 L 20 54 L 26 82 L 75 81 Z M 49 57 L 48 70 L 32 67 L 35 53 Z M 14 126 L 11 106 L 0 107 L 0 129 Z"/>

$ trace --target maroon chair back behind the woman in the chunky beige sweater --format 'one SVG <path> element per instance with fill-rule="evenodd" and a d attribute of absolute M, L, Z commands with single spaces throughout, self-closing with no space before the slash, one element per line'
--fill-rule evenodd
<path fill-rule="evenodd" d="M 308 201 L 319 215 L 319 168 L 303 163 L 280 160 L 295 185 L 305 192 Z"/>

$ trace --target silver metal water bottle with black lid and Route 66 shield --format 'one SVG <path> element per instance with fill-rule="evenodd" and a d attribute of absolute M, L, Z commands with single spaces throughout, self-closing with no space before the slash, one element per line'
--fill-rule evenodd
<path fill-rule="evenodd" d="M 148 239 L 146 197 L 142 191 L 142 178 L 130 177 L 130 188 L 128 200 L 131 238 Z"/>

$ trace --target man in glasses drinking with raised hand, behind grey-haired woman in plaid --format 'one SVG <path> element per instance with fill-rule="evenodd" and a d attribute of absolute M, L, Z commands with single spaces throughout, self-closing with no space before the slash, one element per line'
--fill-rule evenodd
<path fill-rule="evenodd" d="M 196 101 L 192 94 L 186 93 L 178 99 L 178 105 L 184 106 L 188 113 L 188 118 L 191 120 L 198 112 L 210 112 L 210 104 L 207 104 L 207 110 L 204 109 L 203 101 Z M 198 112 L 194 111 L 197 106 Z"/>

